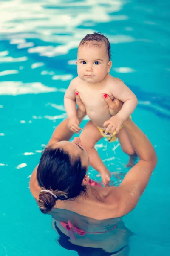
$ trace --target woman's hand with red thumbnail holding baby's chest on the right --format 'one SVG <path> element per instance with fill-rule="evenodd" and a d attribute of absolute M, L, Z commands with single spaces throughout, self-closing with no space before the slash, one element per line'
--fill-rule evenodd
<path fill-rule="evenodd" d="M 121 102 L 119 99 L 111 99 L 108 94 L 103 95 L 103 99 L 109 106 L 109 113 L 112 116 L 115 116 L 122 108 L 123 102 Z"/>

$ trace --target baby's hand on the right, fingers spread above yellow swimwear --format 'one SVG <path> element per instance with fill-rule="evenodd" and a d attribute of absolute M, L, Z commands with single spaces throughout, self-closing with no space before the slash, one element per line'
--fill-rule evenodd
<path fill-rule="evenodd" d="M 108 121 L 104 122 L 104 127 L 108 126 L 106 128 L 105 134 L 108 133 L 108 131 L 111 130 L 111 135 L 113 135 L 113 132 L 116 130 L 116 134 L 119 133 L 119 130 L 122 126 L 123 119 L 121 119 L 119 116 L 112 116 Z"/>

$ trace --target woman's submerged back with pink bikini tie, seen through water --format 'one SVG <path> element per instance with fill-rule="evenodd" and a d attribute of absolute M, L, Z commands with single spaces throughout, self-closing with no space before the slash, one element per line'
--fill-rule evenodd
<path fill-rule="evenodd" d="M 127 246 L 132 232 L 122 218 L 97 220 L 79 215 L 66 209 L 53 208 L 49 214 L 52 226 L 68 236 L 71 244 L 83 247 L 102 248 L 106 252 L 116 252 Z"/>

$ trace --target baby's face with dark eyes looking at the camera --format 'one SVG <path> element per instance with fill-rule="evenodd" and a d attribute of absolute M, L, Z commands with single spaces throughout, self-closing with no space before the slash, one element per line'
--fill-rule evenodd
<path fill-rule="evenodd" d="M 89 84 L 101 82 L 111 69 L 111 61 L 104 44 L 100 47 L 81 45 L 77 54 L 77 73 Z"/>

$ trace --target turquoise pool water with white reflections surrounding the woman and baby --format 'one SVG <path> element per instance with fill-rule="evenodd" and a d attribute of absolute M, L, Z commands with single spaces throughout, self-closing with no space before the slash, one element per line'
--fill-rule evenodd
<path fill-rule="evenodd" d="M 63 96 L 77 76 L 77 45 L 94 31 L 108 36 L 111 75 L 136 93 L 133 120 L 158 155 L 144 195 L 124 218 L 134 232 L 130 256 L 169 255 L 169 10 L 167 0 L 0 1 L 0 256 L 77 255 L 56 243 L 51 217 L 40 213 L 28 186 L 65 118 Z M 119 183 L 127 172 L 119 142 L 102 139 L 96 147 Z"/>

